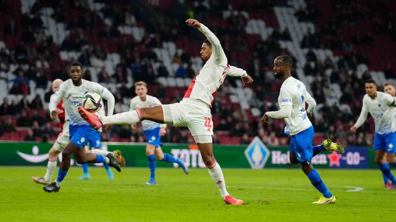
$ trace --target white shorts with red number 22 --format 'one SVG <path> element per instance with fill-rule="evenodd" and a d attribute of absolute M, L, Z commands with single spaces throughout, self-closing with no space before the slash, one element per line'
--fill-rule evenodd
<path fill-rule="evenodd" d="M 187 126 L 192 136 L 213 135 L 213 121 L 208 104 L 192 98 L 183 98 L 178 103 L 162 106 L 170 108 L 173 126 Z"/>

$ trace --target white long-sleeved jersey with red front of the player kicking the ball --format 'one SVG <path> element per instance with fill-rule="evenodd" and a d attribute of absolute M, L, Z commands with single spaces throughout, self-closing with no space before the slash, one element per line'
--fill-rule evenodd
<path fill-rule="evenodd" d="M 246 77 L 245 70 L 228 65 L 227 56 L 221 47 L 219 39 L 201 23 L 199 30 L 212 44 L 212 55 L 206 61 L 198 75 L 191 81 L 184 98 L 202 100 L 211 105 L 214 96 L 227 75 Z"/>

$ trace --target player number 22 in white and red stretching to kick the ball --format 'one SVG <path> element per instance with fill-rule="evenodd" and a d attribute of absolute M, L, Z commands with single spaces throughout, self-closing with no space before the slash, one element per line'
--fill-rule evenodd
<path fill-rule="evenodd" d="M 173 124 L 173 126 L 187 126 L 223 200 L 228 204 L 240 205 L 243 204 L 242 200 L 235 199 L 228 194 L 223 172 L 213 156 L 213 122 L 210 108 L 218 88 L 227 75 L 241 77 L 244 86 L 253 82 L 253 79 L 245 70 L 228 64 L 219 39 L 204 24 L 195 19 L 187 19 L 186 23 L 198 28 L 208 40 L 204 41 L 200 51 L 201 58 L 205 62 L 204 67 L 192 80 L 181 102 L 140 108 L 110 117 L 97 117 L 82 107 L 78 109 L 80 115 L 95 129 L 105 124 L 134 124 L 143 120 Z"/>

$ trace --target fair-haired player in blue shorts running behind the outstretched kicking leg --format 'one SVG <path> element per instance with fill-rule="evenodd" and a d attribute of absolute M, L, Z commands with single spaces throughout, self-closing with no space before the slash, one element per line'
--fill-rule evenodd
<path fill-rule="evenodd" d="M 143 81 L 135 83 L 135 93 L 137 96 L 131 99 L 129 111 L 139 109 L 141 107 L 150 107 L 153 105 L 161 105 L 160 100 L 154 96 L 147 95 L 147 84 Z M 150 120 L 142 121 L 143 131 L 147 140 L 146 155 L 148 159 L 148 167 L 150 168 L 150 180 L 146 182 L 148 185 L 155 184 L 155 168 L 156 160 L 177 163 L 185 174 L 188 173 L 188 168 L 179 158 L 174 158 L 172 155 L 162 152 L 161 136 L 166 134 L 166 124 L 160 124 Z M 136 130 L 136 124 L 132 124 L 131 128 Z"/>

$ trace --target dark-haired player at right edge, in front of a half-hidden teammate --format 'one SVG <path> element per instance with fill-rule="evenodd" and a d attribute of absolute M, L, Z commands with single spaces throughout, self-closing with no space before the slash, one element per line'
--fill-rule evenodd
<path fill-rule="evenodd" d="M 374 135 L 374 154 L 375 163 L 379 169 L 390 180 L 389 190 L 396 189 L 396 179 L 390 171 L 389 164 L 395 165 L 396 152 L 396 120 L 394 118 L 394 107 L 396 105 L 395 97 L 384 92 L 377 91 L 377 84 L 373 79 L 366 80 L 366 95 L 363 96 L 363 106 L 360 116 L 356 123 L 350 128 L 352 133 L 362 126 L 366 121 L 367 113 L 374 118 L 375 135 Z M 388 163 L 384 161 L 384 156 Z M 393 158 L 393 159 L 392 159 Z M 385 181 L 384 181 L 385 182 Z"/>

